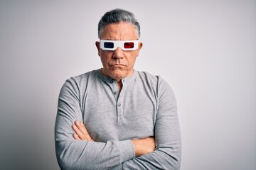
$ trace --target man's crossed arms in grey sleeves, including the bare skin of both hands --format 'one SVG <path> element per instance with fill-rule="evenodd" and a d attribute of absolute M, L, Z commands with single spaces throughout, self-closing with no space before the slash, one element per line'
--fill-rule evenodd
<path fill-rule="evenodd" d="M 170 90 L 163 91 L 154 138 L 94 142 L 84 125 L 75 121 L 83 118 L 79 91 L 71 83 L 68 81 L 60 92 L 55 122 L 55 149 L 61 169 L 179 169 L 181 134 Z"/>

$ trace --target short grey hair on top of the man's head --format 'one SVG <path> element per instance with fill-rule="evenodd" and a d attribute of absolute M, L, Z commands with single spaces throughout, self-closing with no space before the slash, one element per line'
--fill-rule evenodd
<path fill-rule="evenodd" d="M 120 8 L 108 11 L 104 16 L 102 16 L 98 24 L 98 38 L 100 38 L 105 26 L 111 23 L 119 23 L 121 21 L 134 24 L 137 35 L 140 38 L 140 26 L 134 14 Z"/>

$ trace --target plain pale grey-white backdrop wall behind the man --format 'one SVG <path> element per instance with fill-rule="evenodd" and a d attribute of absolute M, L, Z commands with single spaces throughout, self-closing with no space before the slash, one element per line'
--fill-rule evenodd
<path fill-rule="evenodd" d="M 0 169 L 59 169 L 54 124 L 66 79 L 102 67 L 97 23 L 142 27 L 135 69 L 178 102 L 181 170 L 256 169 L 256 1 L 0 0 Z"/>

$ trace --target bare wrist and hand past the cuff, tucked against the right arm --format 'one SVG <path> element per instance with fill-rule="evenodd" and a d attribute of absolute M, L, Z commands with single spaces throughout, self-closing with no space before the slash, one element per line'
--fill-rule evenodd
<path fill-rule="evenodd" d="M 148 154 L 149 152 L 153 152 L 156 147 L 154 137 L 132 140 L 132 144 L 134 145 L 136 157 L 143 154 Z"/>

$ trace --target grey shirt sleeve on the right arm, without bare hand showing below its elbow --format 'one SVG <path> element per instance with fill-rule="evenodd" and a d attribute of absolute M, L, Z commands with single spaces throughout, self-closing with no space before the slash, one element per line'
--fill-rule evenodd
<path fill-rule="evenodd" d="M 174 92 L 169 84 L 159 83 L 155 124 L 156 149 L 122 164 L 122 169 L 180 169 L 181 132 Z"/>

